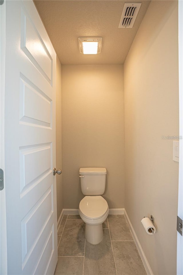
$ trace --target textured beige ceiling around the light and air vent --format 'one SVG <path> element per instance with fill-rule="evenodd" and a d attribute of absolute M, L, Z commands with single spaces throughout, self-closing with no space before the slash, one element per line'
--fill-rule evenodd
<path fill-rule="evenodd" d="M 124 3 L 142 2 L 133 28 L 118 28 Z M 61 64 L 123 64 L 150 1 L 35 0 Z M 79 53 L 78 37 L 102 37 L 100 54 Z"/>

